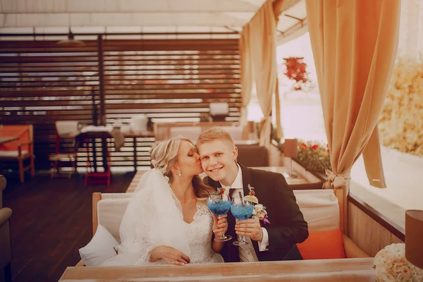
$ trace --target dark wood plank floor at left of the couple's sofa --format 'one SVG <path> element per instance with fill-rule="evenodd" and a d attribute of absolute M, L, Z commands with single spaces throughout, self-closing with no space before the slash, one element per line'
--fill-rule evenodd
<path fill-rule="evenodd" d="M 80 260 L 78 249 L 92 238 L 92 193 L 125 192 L 134 172 L 113 173 L 111 185 L 84 185 L 81 175 L 50 180 L 38 173 L 20 185 L 7 176 L 4 207 L 11 219 L 13 281 L 58 281 Z"/>

